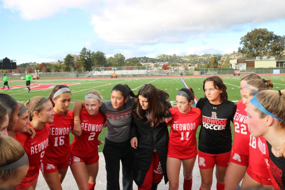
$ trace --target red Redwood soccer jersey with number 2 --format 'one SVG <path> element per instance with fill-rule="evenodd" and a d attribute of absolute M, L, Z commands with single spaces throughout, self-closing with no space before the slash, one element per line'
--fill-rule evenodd
<path fill-rule="evenodd" d="M 99 111 L 96 116 L 90 116 L 85 108 L 80 113 L 82 134 L 75 137 L 71 144 L 71 153 L 81 157 L 92 157 L 98 154 L 98 136 L 106 122 Z"/>

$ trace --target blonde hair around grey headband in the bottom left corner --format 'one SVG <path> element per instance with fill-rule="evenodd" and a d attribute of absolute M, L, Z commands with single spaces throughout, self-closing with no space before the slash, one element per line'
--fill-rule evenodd
<path fill-rule="evenodd" d="M 14 138 L 0 135 L 0 167 L 12 164 L 25 154 L 24 147 Z M 18 175 L 18 168 L 1 169 L 0 179 L 7 180 Z"/>

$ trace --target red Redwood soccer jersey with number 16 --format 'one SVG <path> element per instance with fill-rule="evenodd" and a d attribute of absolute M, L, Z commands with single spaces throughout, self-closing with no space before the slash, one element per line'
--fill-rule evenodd
<path fill-rule="evenodd" d="M 74 126 L 73 112 L 68 110 L 67 115 L 54 115 L 54 122 L 50 123 L 48 147 L 42 162 L 45 164 L 60 164 L 69 159 L 69 133 Z"/>

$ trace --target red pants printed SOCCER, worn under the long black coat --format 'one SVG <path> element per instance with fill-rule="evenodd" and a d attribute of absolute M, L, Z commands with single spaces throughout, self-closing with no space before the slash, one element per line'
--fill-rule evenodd
<path fill-rule="evenodd" d="M 151 189 L 152 183 L 159 183 L 163 178 L 163 172 L 157 152 L 153 152 L 152 160 L 146 172 L 142 186 L 138 190 Z"/>

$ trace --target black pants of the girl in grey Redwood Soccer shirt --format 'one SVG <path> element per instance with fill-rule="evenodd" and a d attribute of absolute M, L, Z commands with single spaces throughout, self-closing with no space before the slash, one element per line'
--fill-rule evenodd
<path fill-rule="evenodd" d="M 120 190 L 120 160 L 122 162 L 123 190 L 133 190 L 133 150 L 130 140 L 112 142 L 105 138 L 103 154 L 107 171 L 107 190 Z"/>

